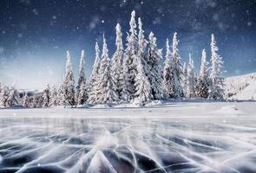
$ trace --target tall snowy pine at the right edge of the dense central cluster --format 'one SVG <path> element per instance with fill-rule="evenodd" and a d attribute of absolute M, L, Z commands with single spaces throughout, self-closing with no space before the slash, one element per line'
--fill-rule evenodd
<path fill-rule="evenodd" d="M 181 65 L 181 56 L 179 54 L 178 49 L 178 38 L 177 33 L 174 33 L 173 38 L 173 52 L 172 52 L 172 62 L 171 62 L 171 74 L 173 77 L 171 78 L 171 97 L 173 98 L 181 98 L 184 96 L 182 90 L 182 65 Z"/>

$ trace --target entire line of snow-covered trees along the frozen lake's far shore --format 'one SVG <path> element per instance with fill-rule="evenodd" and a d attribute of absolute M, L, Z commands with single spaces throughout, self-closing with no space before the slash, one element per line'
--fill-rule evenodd
<path fill-rule="evenodd" d="M 137 27 L 135 11 L 131 13 L 129 26 L 124 48 L 121 25 L 117 23 L 116 50 L 111 59 L 104 35 L 102 54 L 98 42 L 95 42 L 95 62 L 88 80 L 84 74 L 84 50 L 76 86 L 71 56 L 67 51 L 65 74 L 60 86 L 47 85 L 42 95 L 29 97 L 28 93 L 18 93 L 16 88 L 0 83 L 0 105 L 49 107 L 122 102 L 145 105 L 154 99 L 223 99 L 223 61 L 214 35 L 210 44 L 211 64 L 207 62 L 207 53 L 203 49 L 200 71 L 196 73 L 191 54 L 188 63 L 181 64 L 176 32 L 172 45 L 167 39 L 167 52 L 162 64 L 162 49 L 158 47 L 154 33 L 150 32 L 148 39 L 145 38 L 140 17 Z"/>

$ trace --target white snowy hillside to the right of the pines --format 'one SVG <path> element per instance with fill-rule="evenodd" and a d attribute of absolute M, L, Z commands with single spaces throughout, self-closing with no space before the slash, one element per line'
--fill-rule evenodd
<path fill-rule="evenodd" d="M 228 77 L 225 85 L 228 99 L 256 100 L 256 73 Z"/>

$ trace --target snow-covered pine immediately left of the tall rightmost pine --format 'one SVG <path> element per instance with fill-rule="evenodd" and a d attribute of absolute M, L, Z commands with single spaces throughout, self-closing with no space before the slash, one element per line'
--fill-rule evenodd
<path fill-rule="evenodd" d="M 208 62 L 206 50 L 202 50 L 200 74 L 196 83 L 196 96 L 198 98 L 208 98 L 208 87 L 209 87 L 209 74 L 208 74 Z"/>

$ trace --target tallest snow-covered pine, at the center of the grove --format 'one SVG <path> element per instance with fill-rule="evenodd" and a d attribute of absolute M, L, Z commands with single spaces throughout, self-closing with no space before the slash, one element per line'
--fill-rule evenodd
<path fill-rule="evenodd" d="M 127 48 L 125 49 L 123 57 L 123 83 L 121 98 L 125 101 L 131 101 L 135 98 L 135 76 L 137 66 L 137 31 L 135 21 L 135 10 L 131 13 L 131 19 L 129 22 L 130 29 L 126 38 Z"/>

